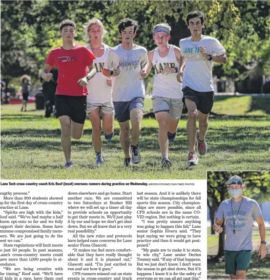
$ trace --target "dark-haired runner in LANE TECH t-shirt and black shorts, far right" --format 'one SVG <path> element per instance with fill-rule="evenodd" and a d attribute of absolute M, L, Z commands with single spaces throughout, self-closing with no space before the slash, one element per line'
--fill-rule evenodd
<path fill-rule="evenodd" d="M 205 16 L 202 12 L 195 11 L 187 15 L 187 27 L 191 37 L 180 40 L 180 49 L 185 60 L 183 76 L 183 102 L 187 106 L 187 138 L 189 145 L 187 166 L 197 165 L 198 157 L 195 152 L 203 156 L 208 145 L 205 135 L 208 129 L 208 115 L 214 101 L 214 86 L 212 79 L 213 62 L 226 64 L 226 51 L 222 44 L 215 38 L 202 34 Z M 182 63 L 182 62 L 181 62 Z M 179 71 L 177 79 L 182 82 L 183 72 Z M 199 111 L 199 114 L 198 114 Z M 196 120 L 199 115 L 199 130 Z"/>

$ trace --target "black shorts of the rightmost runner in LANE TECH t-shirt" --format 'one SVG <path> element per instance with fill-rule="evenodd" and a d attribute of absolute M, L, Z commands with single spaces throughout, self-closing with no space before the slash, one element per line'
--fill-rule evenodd
<path fill-rule="evenodd" d="M 208 114 L 211 112 L 214 103 L 214 92 L 213 91 L 196 91 L 188 86 L 182 89 L 183 92 L 183 102 L 185 103 L 185 98 L 193 100 L 197 109 L 203 114 Z M 186 104 L 186 103 L 185 103 Z"/>

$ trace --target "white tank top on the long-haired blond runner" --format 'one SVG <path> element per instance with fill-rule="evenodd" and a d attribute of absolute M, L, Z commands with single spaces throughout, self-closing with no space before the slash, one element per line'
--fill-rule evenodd
<path fill-rule="evenodd" d="M 90 45 L 87 48 L 92 53 Z M 105 103 L 112 100 L 112 87 L 107 85 L 108 77 L 102 74 L 105 60 L 109 53 L 109 46 L 104 44 L 104 54 L 102 57 L 93 60 L 94 67 L 97 70 L 96 75 L 88 81 L 87 89 L 87 102 L 90 103 Z"/>

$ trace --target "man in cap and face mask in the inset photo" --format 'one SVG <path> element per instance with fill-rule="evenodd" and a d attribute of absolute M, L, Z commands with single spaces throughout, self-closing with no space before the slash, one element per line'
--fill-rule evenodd
<path fill-rule="evenodd" d="M 259 256 L 266 256 L 266 231 L 260 206 L 255 200 L 242 195 L 245 188 L 241 177 L 234 175 L 228 180 L 228 192 L 231 198 L 220 203 L 213 229 L 222 233 L 225 220 L 225 260 L 226 274 L 230 279 L 246 279 L 252 247 L 252 227 L 256 220 L 259 226 L 261 245 Z"/>

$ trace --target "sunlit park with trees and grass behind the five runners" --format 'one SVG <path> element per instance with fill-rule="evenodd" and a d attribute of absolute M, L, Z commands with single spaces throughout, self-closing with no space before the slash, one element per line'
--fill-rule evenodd
<path fill-rule="evenodd" d="M 1 106 L 1 179 L 205 179 L 207 170 L 269 170 L 270 140 L 270 1 L 1 1 L 1 76 L 4 95 L 15 96 L 20 77 L 32 78 L 33 94 L 41 87 L 40 73 L 52 48 L 61 45 L 59 23 L 75 20 L 75 41 L 86 45 L 83 23 L 92 17 L 103 21 L 104 42 L 121 43 L 117 23 L 129 17 L 139 21 L 134 40 L 149 51 L 155 47 L 152 28 L 171 25 L 169 43 L 189 37 L 187 13 L 201 10 L 206 22 L 203 34 L 224 45 L 228 63 L 215 64 L 215 96 L 209 129 L 209 151 L 199 166 L 187 168 L 187 116 L 179 122 L 176 140 L 169 144 L 171 170 L 161 171 L 155 119 L 145 118 L 139 146 L 142 163 L 123 170 L 119 125 L 115 136 L 104 143 L 104 167 L 97 169 L 86 120 L 84 136 L 72 141 L 74 169 L 64 170 L 59 121 L 44 119 L 34 103 L 27 112 L 20 105 Z M 151 95 L 153 72 L 145 80 Z M 238 94 L 238 93 L 240 94 Z M 5 103 L 5 102 L 3 102 Z M 145 100 L 145 112 L 151 100 Z M 103 138 L 104 140 L 104 138 Z"/>

